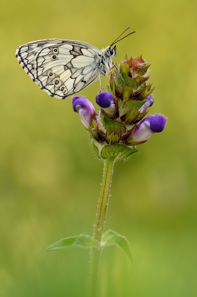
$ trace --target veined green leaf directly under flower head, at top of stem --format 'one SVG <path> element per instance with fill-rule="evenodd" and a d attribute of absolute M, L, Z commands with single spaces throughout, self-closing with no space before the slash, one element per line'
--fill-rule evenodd
<path fill-rule="evenodd" d="M 115 157 L 118 156 L 120 159 L 126 159 L 131 154 L 139 151 L 138 149 L 131 149 L 128 146 L 124 146 L 122 144 L 116 144 L 112 146 L 104 146 L 101 151 L 101 157 L 106 159 L 107 157 Z"/>

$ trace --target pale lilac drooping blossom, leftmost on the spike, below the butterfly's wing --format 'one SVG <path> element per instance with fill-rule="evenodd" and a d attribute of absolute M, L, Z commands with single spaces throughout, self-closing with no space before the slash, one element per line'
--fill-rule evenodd
<path fill-rule="evenodd" d="M 91 120 L 95 117 L 93 104 L 85 97 L 73 97 L 72 107 L 79 113 L 83 126 L 88 129 L 88 124 L 91 124 Z"/>

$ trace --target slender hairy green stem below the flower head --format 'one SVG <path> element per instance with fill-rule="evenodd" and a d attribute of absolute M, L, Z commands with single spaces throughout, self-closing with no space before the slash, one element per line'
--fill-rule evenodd
<path fill-rule="evenodd" d="M 94 239 L 98 242 L 98 248 L 91 249 L 90 273 L 89 273 L 89 291 L 88 297 L 96 296 L 97 274 L 99 268 L 99 257 L 101 254 L 101 236 L 105 224 L 105 216 L 107 211 L 107 204 L 109 199 L 109 190 L 112 181 L 112 173 L 114 167 L 115 157 L 108 157 L 105 159 L 103 169 L 103 180 L 101 185 L 101 192 L 99 197 L 99 207 L 96 216 L 96 226 L 94 230 Z"/>

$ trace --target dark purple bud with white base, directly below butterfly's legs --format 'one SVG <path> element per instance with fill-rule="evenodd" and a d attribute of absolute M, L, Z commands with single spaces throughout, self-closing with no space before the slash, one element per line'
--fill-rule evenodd
<path fill-rule="evenodd" d="M 114 114 L 115 100 L 111 93 L 102 92 L 96 95 L 96 103 L 109 114 Z"/>

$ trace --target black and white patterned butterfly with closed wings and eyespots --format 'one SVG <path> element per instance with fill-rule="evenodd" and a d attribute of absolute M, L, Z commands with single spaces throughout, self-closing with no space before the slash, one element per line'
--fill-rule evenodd
<path fill-rule="evenodd" d="M 51 97 L 65 99 L 97 79 L 101 91 L 100 76 L 107 76 L 116 66 L 112 62 L 117 54 L 116 45 L 112 46 L 123 39 L 118 38 L 103 50 L 76 40 L 37 40 L 18 47 L 16 58 L 41 90 Z"/>

